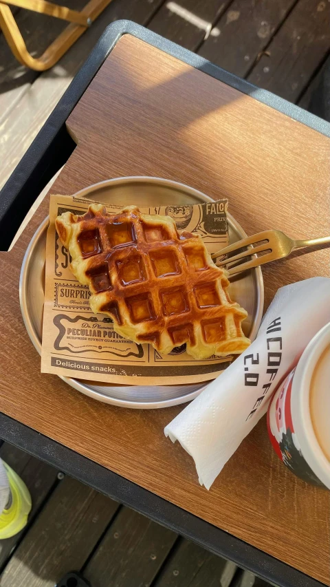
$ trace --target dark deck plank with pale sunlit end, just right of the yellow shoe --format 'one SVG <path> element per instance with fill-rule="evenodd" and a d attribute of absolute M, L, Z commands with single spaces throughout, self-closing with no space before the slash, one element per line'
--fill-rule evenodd
<path fill-rule="evenodd" d="M 79 569 L 119 504 L 65 477 L 1 575 L 1 587 L 54 587 Z"/>

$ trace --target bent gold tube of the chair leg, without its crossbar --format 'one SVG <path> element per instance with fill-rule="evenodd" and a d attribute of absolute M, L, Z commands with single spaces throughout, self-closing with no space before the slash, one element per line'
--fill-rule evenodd
<path fill-rule="evenodd" d="M 80 14 L 83 14 L 84 18 L 88 19 L 89 22 L 93 22 L 110 2 L 111 0 L 90 0 Z M 69 24 L 39 58 L 32 57 L 28 52 L 19 27 L 12 15 L 12 11 L 9 6 L 1 3 L 1 0 L 0 28 L 17 60 L 32 70 L 43 72 L 49 70 L 50 67 L 53 67 L 57 63 L 58 59 L 85 32 L 87 25 Z"/>

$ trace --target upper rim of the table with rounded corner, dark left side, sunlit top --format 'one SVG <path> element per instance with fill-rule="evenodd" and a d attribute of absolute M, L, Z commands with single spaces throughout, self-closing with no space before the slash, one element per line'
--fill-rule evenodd
<path fill-rule="evenodd" d="M 148 30 L 141 25 L 132 21 L 120 20 L 109 25 L 100 37 L 100 40 L 94 47 L 83 67 L 80 68 L 74 80 L 69 85 L 67 91 L 54 108 L 54 111 L 45 122 L 45 125 L 39 131 L 32 145 L 25 153 L 14 173 L 10 176 L 0 191 L 0 228 L 5 226 L 6 230 L 0 230 L 0 251 L 7 250 L 8 246 L 18 231 L 21 222 L 28 214 L 30 207 L 45 185 L 52 179 L 53 175 L 65 164 L 76 144 L 72 140 L 72 147 L 67 142 L 66 149 L 62 153 L 57 153 L 54 157 L 54 147 L 63 139 L 63 134 L 67 134 L 65 122 L 72 110 L 83 96 L 85 90 L 91 83 L 94 76 L 104 63 L 107 56 L 118 43 L 120 37 L 124 34 L 131 34 L 136 39 L 140 39 L 148 45 L 171 55 L 179 61 L 183 61 L 191 67 L 222 81 L 242 92 L 252 96 L 255 100 L 276 109 L 277 111 L 289 116 L 293 120 L 313 129 L 330 138 L 330 123 L 322 120 L 307 110 L 287 102 L 279 96 L 275 96 L 265 89 L 260 89 L 248 81 L 237 77 L 230 72 L 221 70 L 221 67 L 210 63 L 205 58 L 184 49 L 180 45 L 164 39 L 159 34 Z M 53 151 L 52 151 L 53 149 Z M 44 169 L 45 154 L 52 152 L 52 164 L 48 169 Z M 19 203 L 19 212 L 17 209 L 13 213 L 14 205 Z"/>

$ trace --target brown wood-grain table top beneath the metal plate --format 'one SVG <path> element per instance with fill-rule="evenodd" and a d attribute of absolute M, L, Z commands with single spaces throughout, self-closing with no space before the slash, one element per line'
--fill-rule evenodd
<path fill-rule="evenodd" d="M 53 193 L 155 175 L 228 197 L 248 234 L 329 233 L 330 139 L 133 36 L 118 41 L 67 123 L 78 146 Z M 330 493 L 283 466 L 264 419 L 206 491 L 190 456 L 163 434 L 182 406 L 111 407 L 40 373 L 18 284 L 46 214 L 44 202 L 10 253 L 0 253 L 1 411 L 329 584 Z M 328 271 L 329 249 L 265 267 L 266 306 L 278 287 Z"/>

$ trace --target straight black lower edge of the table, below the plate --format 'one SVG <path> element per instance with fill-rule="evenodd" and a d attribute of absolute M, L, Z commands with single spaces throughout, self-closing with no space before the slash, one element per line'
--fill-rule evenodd
<path fill-rule="evenodd" d="M 0 438 L 278 587 L 325 585 L 2 412 Z"/>

